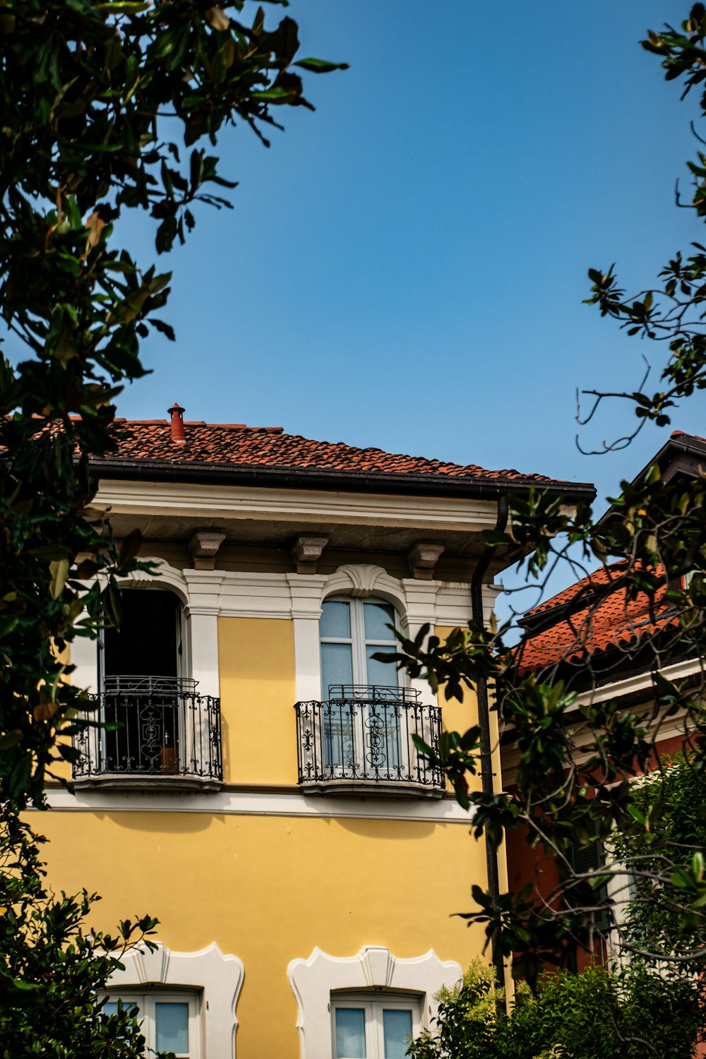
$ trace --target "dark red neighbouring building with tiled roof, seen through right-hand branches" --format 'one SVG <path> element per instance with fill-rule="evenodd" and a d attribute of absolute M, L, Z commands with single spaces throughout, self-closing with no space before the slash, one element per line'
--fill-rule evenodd
<path fill-rule="evenodd" d="M 706 439 L 675 431 L 650 462 L 652 464 L 659 466 L 666 483 L 680 475 L 701 474 L 706 470 Z M 650 465 L 635 481 L 642 478 Z M 603 519 L 614 514 L 610 509 Z M 530 610 L 520 623 L 524 636 L 517 648 L 517 657 L 524 670 L 533 671 L 546 683 L 562 680 L 566 690 L 577 693 L 577 711 L 566 717 L 567 724 L 571 725 L 573 719 L 579 720 L 581 705 L 619 700 L 626 710 L 654 726 L 655 747 L 664 759 L 683 749 L 686 722 L 684 711 L 669 716 L 659 713 L 654 674 L 658 671 L 672 681 L 693 678 L 703 683 L 703 661 L 685 646 L 666 584 L 662 584 L 652 597 L 638 593 L 636 598 L 630 599 L 623 589 L 601 597 L 605 585 L 619 578 L 630 561 L 601 567 Z M 659 577 L 664 571 L 657 569 L 655 574 Z M 581 725 L 577 723 L 576 728 L 580 733 Z M 579 735 L 579 752 L 580 738 Z M 517 752 L 512 748 L 511 732 L 505 735 L 502 760 L 503 784 L 512 787 Z M 603 863 L 603 851 L 598 844 L 590 847 L 577 844 L 573 857 L 575 867 L 582 872 L 593 870 Z M 529 884 L 546 898 L 559 882 L 555 862 L 527 844 L 523 830 L 507 836 L 507 866 L 513 891 Z M 626 895 L 627 879 L 618 877 L 609 891 L 618 919 Z M 599 917 L 596 927 L 602 932 L 602 938 L 600 933 L 596 936 L 594 955 L 602 959 L 611 941 L 610 918 Z M 579 966 L 584 966 L 590 958 L 589 954 L 583 954 Z"/>

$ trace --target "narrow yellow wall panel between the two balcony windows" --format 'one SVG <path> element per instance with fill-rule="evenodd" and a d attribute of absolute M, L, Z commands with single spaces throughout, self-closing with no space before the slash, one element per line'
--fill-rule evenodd
<path fill-rule="evenodd" d="M 296 783 L 293 626 L 284 618 L 219 617 L 225 783 Z"/>

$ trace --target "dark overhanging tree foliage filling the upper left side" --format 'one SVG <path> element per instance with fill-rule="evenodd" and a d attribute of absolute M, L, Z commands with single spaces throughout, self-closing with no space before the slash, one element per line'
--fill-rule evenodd
<path fill-rule="evenodd" d="M 273 0 L 276 2 L 276 0 Z M 311 107 L 297 25 L 266 25 L 245 0 L 7 0 L 0 5 L 0 789 L 42 804 L 87 703 L 66 645 L 120 622 L 117 549 L 82 517 L 89 455 L 115 447 L 113 401 L 144 373 L 140 340 L 170 273 L 122 244 L 126 212 L 153 218 L 158 254 L 183 243 L 195 205 L 230 207 L 209 154 L 240 122 L 268 143 L 275 108 Z M 205 144 L 205 146 L 204 146 Z M 23 359 L 25 358 L 25 359 Z M 87 597 L 80 578 L 101 574 Z M 79 616 L 84 609 L 87 617 Z M 77 623 L 77 624 L 76 624 Z M 73 719 L 72 719 L 73 718 Z"/>

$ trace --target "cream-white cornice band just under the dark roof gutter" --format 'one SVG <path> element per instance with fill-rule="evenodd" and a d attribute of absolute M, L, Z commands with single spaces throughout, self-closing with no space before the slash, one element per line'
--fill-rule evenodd
<path fill-rule="evenodd" d="M 396 528 L 461 530 L 477 533 L 492 528 L 497 517 L 495 500 L 464 497 L 414 497 L 367 492 L 328 492 L 320 489 L 257 488 L 241 484 L 196 485 L 185 482 L 129 482 L 103 479 L 92 508 L 110 508 L 113 515 L 156 515 L 191 519 L 257 519 L 268 522 L 295 520 L 315 532 L 333 522 L 344 525 Z"/>

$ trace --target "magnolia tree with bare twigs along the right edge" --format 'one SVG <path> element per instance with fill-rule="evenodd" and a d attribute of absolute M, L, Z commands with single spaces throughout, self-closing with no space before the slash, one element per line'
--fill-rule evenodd
<path fill-rule="evenodd" d="M 703 122 L 704 4 L 692 7 L 681 30 L 649 32 L 642 43 L 662 59 L 667 79 L 681 83 L 687 102 L 696 104 L 696 122 Z M 694 132 L 701 143 L 698 124 Z M 693 185 L 680 204 L 691 209 L 698 221 L 706 218 L 706 156 L 701 150 L 689 169 Z M 609 398 L 634 406 L 635 429 L 615 443 L 626 445 L 647 421 L 667 426 L 681 399 L 706 388 L 706 248 L 694 243 L 688 252 L 676 252 L 657 283 L 632 297 L 620 288 L 613 268 L 591 269 L 587 301 L 629 335 L 646 339 L 663 358 L 659 392 L 644 392 L 642 384 L 635 393 L 591 395 L 586 418 L 599 414 Z M 635 482 L 621 483 L 618 491 L 610 515 L 600 520 L 587 505 L 571 510 L 541 491 L 526 501 L 510 497 L 508 526 L 486 534 L 490 557 L 496 551 L 505 561 L 514 556 L 530 582 L 541 582 L 560 560 L 569 561 L 579 577 L 598 568 L 563 606 L 553 609 L 550 621 L 571 632 L 561 657 L 542 667 L 530 664 L 527 640 L 510 649 L 508 626 L 486 629 L 476 622 L 446 641 L 427 640 L 428 628 L 415 641 L 399 636 L 398 653 L 388 657 L 412 676 L 427 676 L 433 687 L 443 686 L 447 699 L 474 689 L 483 703 L 489 685 L 494 693 L 501 740 L 517 761 L 509 790 L 493 791 L 482 782 L 482 761 L 491 747 L 481 728 L 445 733 L 433 750 L 420 747 L 445 769 L 461 805 L 473 807 L 475 832 L 485 833 L 490 859 L 508 830 L 521 829 L 556 866 L 551 893 L 539 894 L 531 886 L 510 893 L 473 886 L 475 908 L 465 914 L 470 921 L 485 922 L 499 971 L 503 958 L 514 956 L 514 972 L 531 983 L 545 964 L 571 965 L 577 949 L 595 948 L 601 919 L 611 915 L 616 899 L 624 898 L 630 880 L 637 901 L 649 904 L 655 894 L 669 895 L 670 929 L 649 929 L 645 918 L 646 929 L 637 934 L 616 919 L 618 948 L 663 969 L 684 968 L 687 974 L 703 974 L 706 958 L 703 836 L 683 842 L 660 832 L 667 788 L 653 787 L 657 796 L 645 805 L 636 782 L 650 770 L 660 774 L 665 721 L 678 722 L 691 793 L 700 811 L 706 806 L 701 671 L 681 683 L 662 671 L 668 663 L 705 653 L 706 478 L 667 481 L 655 466 Z M 637 641 L 626 635 L 615 645 L 618 668 L 622 652 L 626 664 L 638 662 L 651 675 L 650 701 L 633 712 L 597 687 L 605 682 L 605 672 L 597 668 L 591 649 L 594 620 L 611 600 L 626 622 L 639 604 L 648 632 Z M 691 668 L 700 670 L 696 663 Z M 580 687 L 595 690 L 579 698 Z M 627 865 L 609 857 L 600 870 L 576 869 L 572 852 L 577 839 L 586 848 L 593 843 L 610 847 L 616 837 L 623 843 Z M 638 919 L 635 914 L 633 920 Z"/>

